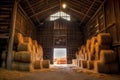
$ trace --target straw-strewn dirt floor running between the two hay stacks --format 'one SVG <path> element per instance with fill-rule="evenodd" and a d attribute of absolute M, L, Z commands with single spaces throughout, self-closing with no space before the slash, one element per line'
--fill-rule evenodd
<path fill-rule="evenodd" d="M 34 72 L 0 69 L 0 80 L 120 80 L 120 74 L 98 74 L 70 65 L 59 65 Z"/>

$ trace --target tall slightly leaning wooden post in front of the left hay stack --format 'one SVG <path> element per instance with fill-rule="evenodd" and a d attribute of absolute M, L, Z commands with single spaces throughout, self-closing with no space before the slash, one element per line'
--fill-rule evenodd
<path fill-rule="evenodd" d="M 8 45 L 8 57 L 7 57 L 7 69 L 11 69 L 11 53 L 13 50 L 13 42 L 14 42 L 14 34 L 15 34 L 15 22 L 16 22 L 16 15 L 17 15 L 17 1 L 15 0 L 12 12 L 12 19 L 11 19 L 11 30 L 10 30 L 10 38 L 9 38 L 9 45 Z"/>

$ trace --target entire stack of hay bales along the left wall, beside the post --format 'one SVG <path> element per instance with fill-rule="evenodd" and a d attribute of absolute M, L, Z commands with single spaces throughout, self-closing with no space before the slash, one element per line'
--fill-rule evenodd
<path fill-rule="evenodd" d="M 36 64 L 38 64 L 40 59 L 36 59 L 36 54 L 41 53 L 41 50 L 38 50 L 39 45 L 37 41 L 32 40 L 31 37 L 24 37 L 22 34 L 17 33 L 14 43 L 17 44 L 17 52 L 14 54 L 12 69 L 19 71 L 33 71 L 34 68 L 38 68 L 38 65 L 36 67 Z"/>

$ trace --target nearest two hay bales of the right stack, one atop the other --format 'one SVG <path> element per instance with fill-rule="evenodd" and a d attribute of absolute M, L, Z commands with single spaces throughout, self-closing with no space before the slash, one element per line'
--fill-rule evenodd
<path fill-rule="evenodd" d="M 100 60 L 95 62 L 95 71 L 100 73 L 118 73 L 119 66 L 116 63 L 116 54 L 113 50 L 101 50 Z"/>

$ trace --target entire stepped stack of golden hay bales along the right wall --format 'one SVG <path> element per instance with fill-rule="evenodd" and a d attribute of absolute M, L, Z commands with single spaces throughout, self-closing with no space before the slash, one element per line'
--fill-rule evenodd
<path fill-rule="evenodd" d="M 110 49 L 111 44 L 112 39 L 109 33 L 99 33 L 88 39 L 86 45 L 82 45 L 78 51 L 80 66 L 96 72 L 118 72 L 118 64 L 115 61 L 116 54 Z"/>

